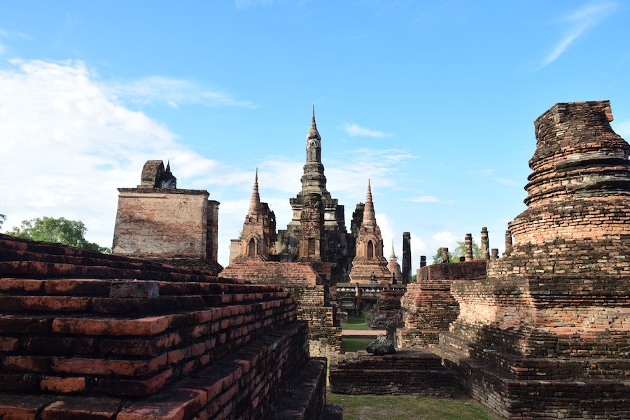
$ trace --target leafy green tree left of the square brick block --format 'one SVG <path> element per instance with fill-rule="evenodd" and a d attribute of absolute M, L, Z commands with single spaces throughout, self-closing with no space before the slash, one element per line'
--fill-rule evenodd
<path fill-rule="evenodd" d="M 44 216 L 43 218 L 22 221 L 20 228 L 13 228 L 13 230 L 6 232 L 6 235 L 111 253 L 110 248 L 87 241 L 85 232 L 87 232 L 87 228 L 81 221 Z"/>

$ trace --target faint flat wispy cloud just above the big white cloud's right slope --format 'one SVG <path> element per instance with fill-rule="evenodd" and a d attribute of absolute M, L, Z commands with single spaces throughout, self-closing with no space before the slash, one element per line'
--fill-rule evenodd
<path fill-rule="evenodd" d="M 125 83 L 111 83 L 110 88 L 117 97 L 127 97 L 141 104 L 162 103 L 174 108 L 182 104 L 257 107 L 253 102 L 239 100 L 228 92 L 204 87 L 192 80 L 165 76 L 148 76 Z"/>

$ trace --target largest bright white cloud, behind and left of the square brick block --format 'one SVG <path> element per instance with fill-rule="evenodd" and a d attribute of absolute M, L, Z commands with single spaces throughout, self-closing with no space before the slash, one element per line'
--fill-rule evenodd
<path fill-rule="evenodd" d="M 64 216 L 83 221 L 88 240 L 111 246 L 117 188 L 137 186 L 146 160 L 170 158 L 181 186 L 200 176 L 221 178 L 225 165 L 121 106 L 83 62 L 11 64 L 0 71 L 3 172 L 10 175 L 0 187 L 4 229 Z"/>

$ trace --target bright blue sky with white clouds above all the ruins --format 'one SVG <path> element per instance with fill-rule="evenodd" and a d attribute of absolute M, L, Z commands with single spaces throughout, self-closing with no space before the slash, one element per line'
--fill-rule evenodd
<path fill-rule="evenodd" d="M 279 228 L 314 104 L 346 223 L 372 183 L 386 254 L 412 265 L 525 209 L 533 120 L 610 99 L 630 138 L 624 1 L 0 1 L 2 231 L 83 221 L 111 246 L 146 160 L 219 207 L 219 262 L 255 168 Z"/>

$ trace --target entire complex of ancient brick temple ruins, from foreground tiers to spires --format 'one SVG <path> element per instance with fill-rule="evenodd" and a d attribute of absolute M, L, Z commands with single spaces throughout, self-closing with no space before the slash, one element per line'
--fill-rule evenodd
<path fill-rule="evenodd" d="M 148 161 L 120 188 L 118 255 L 0 235 L 0 418 L 325 419 L 325 360 L 310 356 L 325 353 L 334 392 L 459 386 L 513 419 L 630 419 L 630 145 L 611 120 L 606 101 L 542 114 L 502 257 L 484 228 L 484 258 L 467 234 L 463 262 L 421 260 L 408 285 L 410 235 L 403 284 L 400 266 L 362 266 L 382 258 L 371 188 L 346 233 L 314 116 L 288 229 L 274 236 L 256 174 L 221 276 L 218 203 Z M 360 280 L 339 283 L 355 240 Z M 335 354 L 337 306 L 364 304 L 399 320 L 397 353 Z"/>

